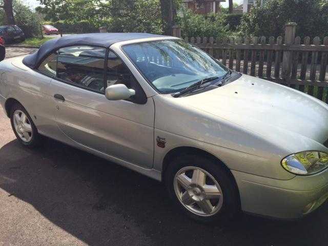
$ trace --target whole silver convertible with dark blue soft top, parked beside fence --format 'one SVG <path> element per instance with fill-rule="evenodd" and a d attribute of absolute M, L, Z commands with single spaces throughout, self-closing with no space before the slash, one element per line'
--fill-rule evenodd
<path fill-rule="evenodd" d="M 179 38 L 49 40 L 0 63 L 0 103 L 24 146 L 47 136 L 163 181 L 201 222 L 293 219 L 328 197 L 328 105 Z"/>

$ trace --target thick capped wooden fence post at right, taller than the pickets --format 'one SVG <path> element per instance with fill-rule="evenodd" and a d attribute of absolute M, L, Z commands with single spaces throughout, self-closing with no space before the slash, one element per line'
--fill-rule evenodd
<path fill-rule="evenodd" d="M 285 25 L 285 45 L 290 46 L 294 44 L 295 41 L 295 34 L 296 34 L 296 26 L 295 22 L 287 23 Z M 282 79 L 283 81 L 290 81 L 291 80 L 291 72 L 292 72 L 292 58 L 293 52 L 291 50 L 284 50 L 283 51 L 283 58 L 282 58 Z"/>

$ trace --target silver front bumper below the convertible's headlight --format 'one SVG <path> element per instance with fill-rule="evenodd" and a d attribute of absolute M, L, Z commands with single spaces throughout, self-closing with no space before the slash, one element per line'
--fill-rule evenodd
<path fill-rule="evenodd" d="M 290 180 L 231 171 L 239 189 L 241 209 L 245 212 L 295 219 L 313 212 L 328 197 L 328 170 Z"/>

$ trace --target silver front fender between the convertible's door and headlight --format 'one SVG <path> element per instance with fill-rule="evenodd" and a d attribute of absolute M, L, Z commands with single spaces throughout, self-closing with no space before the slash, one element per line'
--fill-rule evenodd
<path fill-rule="evenodd" d="M 170 150 L 193 147 L 216 156 L 231 170 L 283 180 L 295 177 L 280 165 L 290 150 L 232 122 L 176 104 L 174 99 L 154 96 L 155 169 L 162 169 L 163 159 Z M 157 136 L 165 138 L 165 148 L 156 145 Z"/>

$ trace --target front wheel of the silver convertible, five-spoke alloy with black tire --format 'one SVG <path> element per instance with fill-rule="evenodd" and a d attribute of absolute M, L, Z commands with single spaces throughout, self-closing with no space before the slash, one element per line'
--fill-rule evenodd
<path fill-rule="evenodd" d="M 176 207 L 198 222 L 223 222 L 240 212 L 235 180 L 229 169 L 214 158 L 181 155 L 169 164 L 164 179 Z"/>

